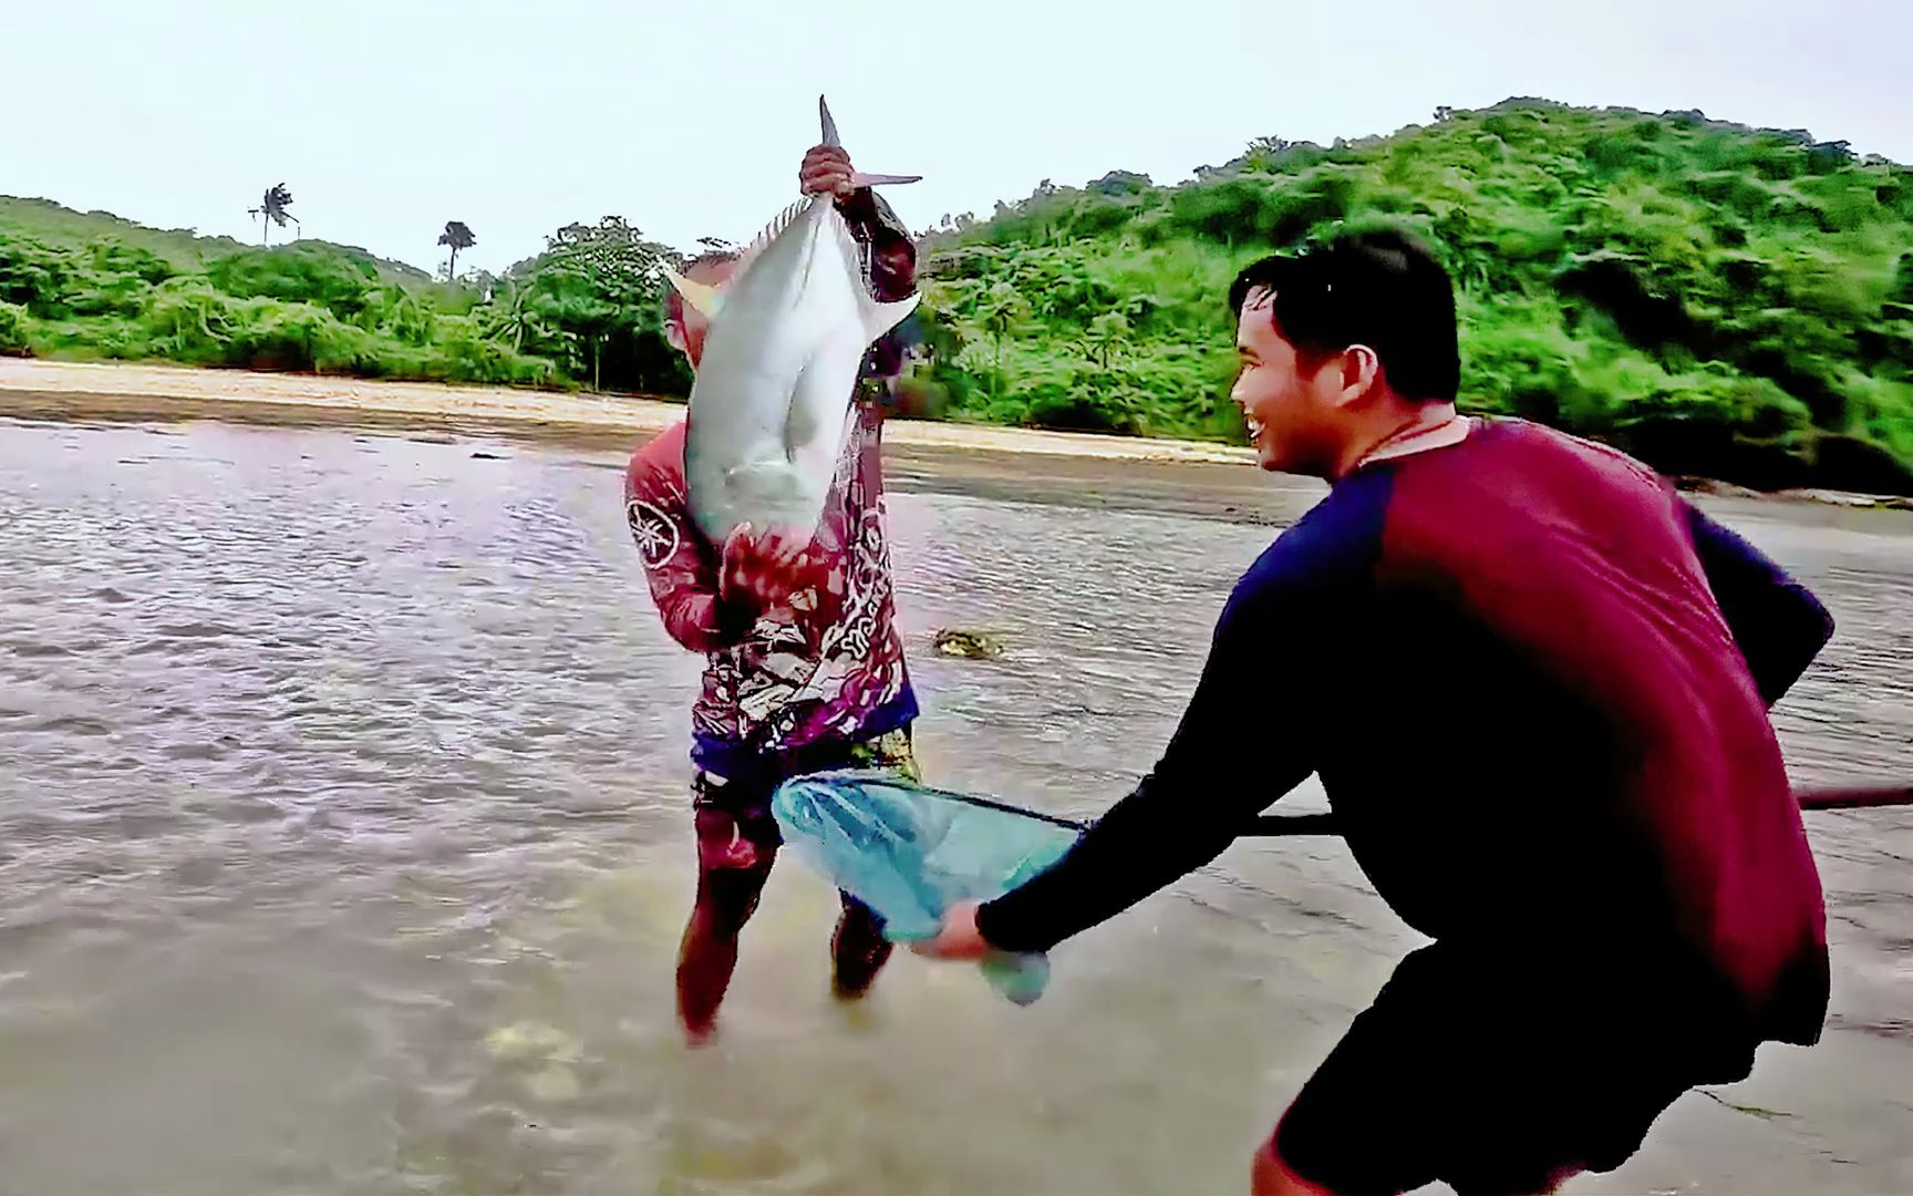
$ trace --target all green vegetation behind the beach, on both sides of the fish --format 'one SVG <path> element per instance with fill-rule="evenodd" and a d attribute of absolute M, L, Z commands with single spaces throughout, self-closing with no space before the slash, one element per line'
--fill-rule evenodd
<path fill-rule="evenodd" d="M 1670 473 L 1913 492 L 1913 172 L 1804 132 L 1538 100 L 945 216 L 922 241 L 913 410 L 1240 440 L 1228 279 L 1374 220 L 1458 279 L 1465 406 Z M 0 352 L 683 394 L 664 255 L 605 220 L 499 279 L 434 285 L 312 241 L 50 235 L 0 205 Z"/>

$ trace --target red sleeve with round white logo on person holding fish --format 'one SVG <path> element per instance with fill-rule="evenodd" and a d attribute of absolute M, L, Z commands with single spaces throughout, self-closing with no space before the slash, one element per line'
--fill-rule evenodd
<path fill-rule="evenodd" d="M 714 653 L 738 643 L 754 620 L 717 597 L 715 553 L 691 522 L 683 471 L 660 461 L 677 457 L 681 444 L 683 432 L 673 429 L 631 457 L 624 475 L 624 517 L 664 631 L 693 653 Z"/>

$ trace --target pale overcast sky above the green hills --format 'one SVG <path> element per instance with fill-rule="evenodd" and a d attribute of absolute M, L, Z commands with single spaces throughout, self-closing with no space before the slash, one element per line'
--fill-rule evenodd
<path fill-rule="evenodd" d="M 0 0 L 0 193 L 501 270 L 570 220 L 748 239 L 817 94 L 913 228 L 1506 96 L 1699 107 L 1913 163 L 1909 0 Z"/>

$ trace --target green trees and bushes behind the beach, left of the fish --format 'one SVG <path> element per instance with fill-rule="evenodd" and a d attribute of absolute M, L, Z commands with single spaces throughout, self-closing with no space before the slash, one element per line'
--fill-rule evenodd
<path fill-rule="evenodd" d="M 557 230 L 503 277 L 434 281 L 325 241 L 245 247 L 0 199 L 0 352 L 683 394 L 668 253 L 612 216 Z"/>

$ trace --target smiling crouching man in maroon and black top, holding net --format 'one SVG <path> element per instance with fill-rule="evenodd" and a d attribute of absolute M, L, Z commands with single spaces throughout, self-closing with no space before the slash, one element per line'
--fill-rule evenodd
<path fill-rule="evenodd" d="M 1613 1169 L 1689 1087 L 1819 1037 L 1821 888 L 1768 708 L 1831 620 L 1638 461 L 1460 415 L 1454 289 L 1412 237 L 1264 258 L 1228 304 L 1263 467 L 1330 496 L 1238 582 L 1142 785 L 916 949 L 1046 951 L 1318 773 L 1433 943 L 1303 1087 L 1253 1188 Z"/>

